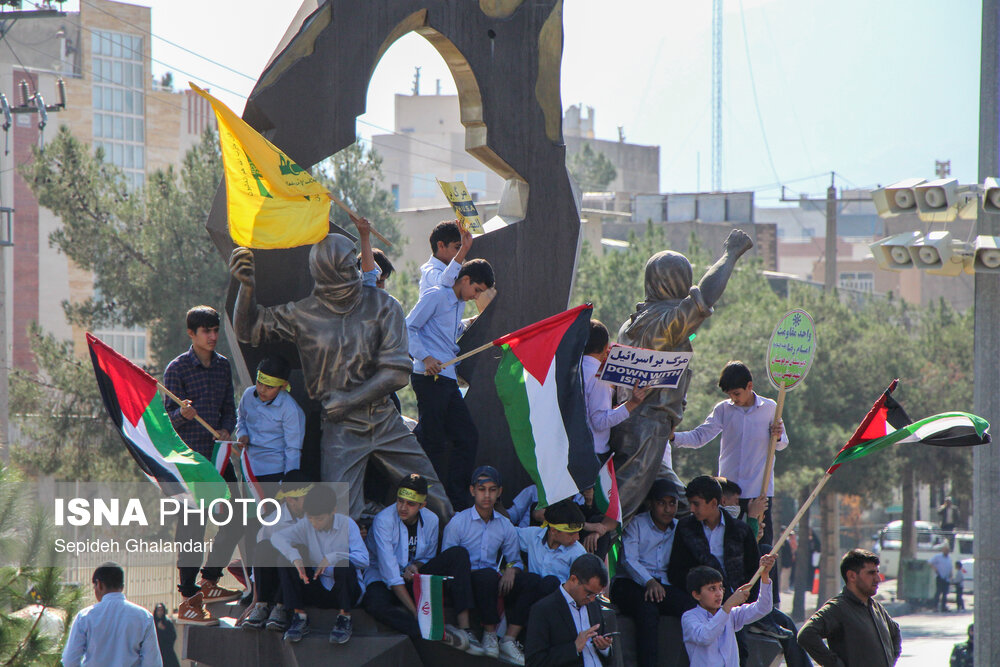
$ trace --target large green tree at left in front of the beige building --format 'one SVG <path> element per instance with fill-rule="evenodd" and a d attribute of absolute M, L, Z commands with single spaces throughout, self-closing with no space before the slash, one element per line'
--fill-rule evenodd
<path fill-rule="evenodd" d="M 71 323 L 145 326 L 162 366 L 188 346 L 178 324 L 187 310 L 222 306 L 229 273 L 205 230 L 222 178 L 213 133 L 188 151 L 179 174 L 154 172 L 140 190 L 65 126 L 21 173 L 39 204 L 62 219 L 49 242 L 94 275 L 93 297 L 63 304 Z"/>

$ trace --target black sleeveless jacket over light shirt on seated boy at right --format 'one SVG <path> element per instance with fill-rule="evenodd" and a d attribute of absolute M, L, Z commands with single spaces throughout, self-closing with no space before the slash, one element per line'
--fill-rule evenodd
<path fill-rule="evenodd" d="M 727 590 L 735 590 L 750 581 L 760 566 L 757 540 L 750 526 L 730 516 L 723 517 L 725 533 L 722 556 L 725 570 L 723 583 Z M 708 548 L 708 538 L 702 523 L 688 515 L 677 522 L 674 529 L 674 546 L 667 565 L 667 579 L 680 590 L 687 590 L 687 573 L 693 567 L 707 565 L 719 569 L 719 563 Z"/>

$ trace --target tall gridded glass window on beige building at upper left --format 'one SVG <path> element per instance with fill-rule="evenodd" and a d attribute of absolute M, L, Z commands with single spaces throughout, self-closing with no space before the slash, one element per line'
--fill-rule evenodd
<path fill-rule="evenodd" d="M 143 41 L 137 35 L 95 30 L 91 42 L 94 72 L 94 148 L 125 172 L 133 187 L 145 182 Z"/>

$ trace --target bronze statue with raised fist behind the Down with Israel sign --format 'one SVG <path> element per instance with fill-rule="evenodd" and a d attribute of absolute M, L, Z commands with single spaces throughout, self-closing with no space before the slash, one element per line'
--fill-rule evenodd
<path fill-rule="evenodd" d="M 650 350 L 690 352 L 690 336 L 712 314 L 722 296 L 736 260 L 753 247 L 747 234 L 734 229 L 725 252 L 692 286 L 691 262 L 672 250 L 658 252 L 646 262 L 646 299 L 618 332 L 618 342 Z M 615 475 L 622 514 L 632 516 L 660 474 L 663 452 L 674 428 L 684 416 L 691 370 L 685 370 L 676 389 L 653 389 L 632 416 L 611 431 Z M 673 470 L 667 473 L 679 482 Z"/>

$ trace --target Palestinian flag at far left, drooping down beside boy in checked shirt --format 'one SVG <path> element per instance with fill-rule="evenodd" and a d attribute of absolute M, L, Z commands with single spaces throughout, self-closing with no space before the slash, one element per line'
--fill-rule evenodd
<path fill-rule="evenodd" d="M 174 431 L 157 398 L 156 380 L 90 333 L 90 360 L 104 407 L 139 469 L 168 496 L 195 502 L 227 498 L 222 477 L 208 459 Z"/>

